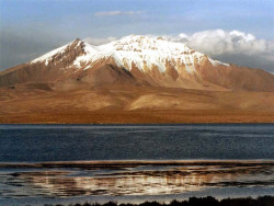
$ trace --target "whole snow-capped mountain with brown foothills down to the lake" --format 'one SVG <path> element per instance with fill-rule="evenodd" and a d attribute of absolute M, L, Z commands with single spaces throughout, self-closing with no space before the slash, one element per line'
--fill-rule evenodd
<path fill-rule="evenodd" d="M 237 122 L 224 116 L 228 111 L 248 115 L 246 122 L 253 119 L 252 112 L 274 121 L 273 75 L 212 59 L 162 37 L 130 35 L 101 46 L 77 38 L 1 71 L 0 92 L 2 122 L 22 122 L 21 115 L 26 122 L 127 123 L 132 113 L 138 123 L 192 122 L 191 113 L 183 117 L 190 111 L 216 113 L 216 122 Z M 121 113 L 124 117 L 116 118 Z M 206 122 L 196 114 L 197 122 Z"/>

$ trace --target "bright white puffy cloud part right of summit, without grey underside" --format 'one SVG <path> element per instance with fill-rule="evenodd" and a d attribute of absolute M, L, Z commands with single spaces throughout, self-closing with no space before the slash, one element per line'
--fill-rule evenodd
<path fill-rule="evenodd" d="M 182 42 L 199 52 L 220 55 L 227 53 L 256 53 L 273 52 L 273 45 L 265 39 L 258 39 L 253 34 L 240 31 L 226 32 L 224 30 L 202 31 L 191 35 L 184 33 L 178 36 L 168 36 L 169 39 Z"/>

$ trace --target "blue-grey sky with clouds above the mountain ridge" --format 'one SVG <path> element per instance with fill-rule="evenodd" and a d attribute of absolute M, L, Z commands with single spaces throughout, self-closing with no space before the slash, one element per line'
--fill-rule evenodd
<path fill-rule="evenodd" d="M 76 38 L 164 36 L 274 73 L 273 0 L 0 0 L 0 70 Z"/>

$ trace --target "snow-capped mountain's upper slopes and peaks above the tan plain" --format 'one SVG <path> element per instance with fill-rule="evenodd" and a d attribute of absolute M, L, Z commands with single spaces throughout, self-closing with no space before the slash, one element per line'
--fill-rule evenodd
<path fill-rule="evenodd" d="M 138 35 L 101 46 L 76 39 L 0 72 L 0 87 L 31 82 L 58 89 L 69 83 L 274 91 L 274 76 L 263 70 L 224 64 L 181 43 Z"/>

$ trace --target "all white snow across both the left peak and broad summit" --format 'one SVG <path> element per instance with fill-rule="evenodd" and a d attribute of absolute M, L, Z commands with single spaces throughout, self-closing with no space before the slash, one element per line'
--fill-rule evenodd
<path fill-rule="evenodd" d="M 55 55 L 64 54 L 66 48 L 73 43 L 49 52 L 32 60 L 31 64 L 45 61 L 47 66 Z M 171 64 L 175 70 L 183 65 L 189 73 L 194 73 L 196 65 L 207 58 L 206 55 L 195 52 L 184 44 L 168 42 L 162 37 L 140 35 L 129 35 L 101 46 L 93 46 L 78 41 L 76 47 L 78 46 L 82 47 L 83 54 L 73 60 L 73 66 L 81 68 L 82 65 L 87 65 L 84 69 L 92 68 L 90 64 L 96 60 L 112 57 L 118 66 L 124 66 L 128 70 L 132 70 L 132 65 L 135 64 L 141 71 L 145 70 L 145 67 L 151 69 L 156 66 L 160 72 L 164 72 L 167 64 Z M 229 66 L 210 58 L 208 60 L 215 67 L 218 65 Z"/>

